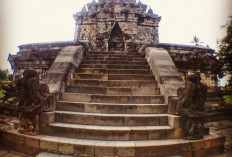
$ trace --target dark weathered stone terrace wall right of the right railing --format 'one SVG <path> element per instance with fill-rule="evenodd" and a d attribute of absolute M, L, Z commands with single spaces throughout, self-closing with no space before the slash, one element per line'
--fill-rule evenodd
<path fill-rule="evenodd" d="M 199 46 L 160 43 L 157 47 L 168 51 L 183 80 L 199 72 L 201 82 L 210 88 L 217 87 L 217 74 L 223 66 L 215 57 L 215 50 Z"/>

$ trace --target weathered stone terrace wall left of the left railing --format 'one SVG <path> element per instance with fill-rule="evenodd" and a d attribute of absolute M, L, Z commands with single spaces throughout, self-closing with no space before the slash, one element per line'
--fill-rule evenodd
<path fill-rule="evenodd" d="M 42 80 L 51 67 L 57 54 L 66 46 L 78 45 L 73 41 L 54 43 L 33 43 L 19 46 L 16 55 L 9 54 L 9 62 L 14 72 L 14 77 L 21 78 L 25 69 L 33 69 L 39 73 Z"/>

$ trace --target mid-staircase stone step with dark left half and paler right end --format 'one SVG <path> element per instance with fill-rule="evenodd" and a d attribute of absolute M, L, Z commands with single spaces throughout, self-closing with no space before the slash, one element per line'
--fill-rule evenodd
<path fill-rule="evenodd" d="M 65 91 L 69 93 L 86 93 L 86 94 L 108 94 L 108 95 L 160 95 L 159 88 L 142 87 L 142 88 L 110 88 L 94 86 L 66 86 Z"/>

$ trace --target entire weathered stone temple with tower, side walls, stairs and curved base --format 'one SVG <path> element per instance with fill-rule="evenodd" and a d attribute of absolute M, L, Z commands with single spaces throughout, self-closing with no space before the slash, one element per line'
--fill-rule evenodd
<path fill-rule="evenodd" d="M 9 55 L 15 80 L 24 81 L 19 87 L 41 95 L 24 72 L 35 70 L 54 102 L 36 113 L 39 135 L 1 127 L 0 145 L 31 156 L 203 157 L 223 151 L 225 138 L 204 128 L 202 114 L 221 103 L 212 99 L 223 65 L 214 50 L 160 43 L 161 17 L 136 0 L 93 0 L 74 19 L 73 41 L 25 44 Z M 22 126 L 25 119 L 19 121 Z"/>

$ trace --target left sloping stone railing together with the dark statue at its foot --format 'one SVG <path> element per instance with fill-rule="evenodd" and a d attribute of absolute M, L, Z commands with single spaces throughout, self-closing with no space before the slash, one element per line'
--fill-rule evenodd
<path fill-rule="evenodd" d="M 88 47 L 88 43 L 64 47 L 41 82 L 35 70 L 25 70 L 24 77 L 17 82 L 20 133 L 36 135 L 54 121 L 53 111 L 59 93 L 64 91 L 66 82 L 81 63 Z"/>

